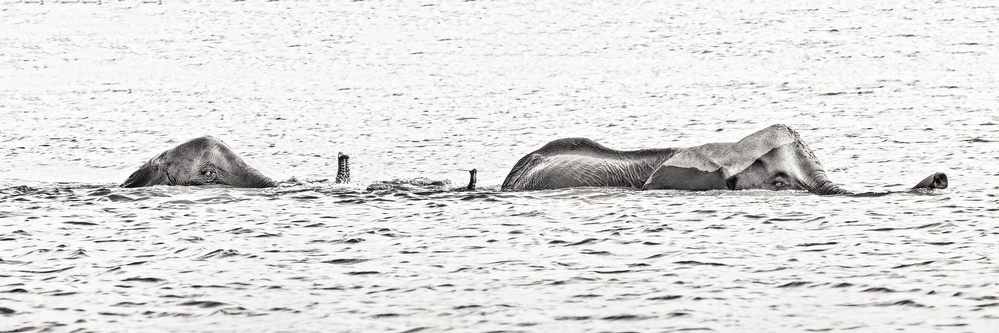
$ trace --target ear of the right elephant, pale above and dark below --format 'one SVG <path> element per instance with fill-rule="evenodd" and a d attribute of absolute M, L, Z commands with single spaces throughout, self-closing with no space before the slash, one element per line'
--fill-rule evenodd
<path fill-rule="evenodd" d="M 642 186 L 643 190 L 725 190 L 725 171 L 700 152 L 684 150 L 666 160 Z"/>

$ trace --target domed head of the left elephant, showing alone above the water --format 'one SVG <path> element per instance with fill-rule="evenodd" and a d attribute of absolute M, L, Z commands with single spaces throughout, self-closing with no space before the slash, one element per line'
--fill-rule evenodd
<path fill-rule="evenodd" d="M 243 162 L 222 140 L 203 136 L 153 157 L 121 187 L 211 184 L 273 187 L 278 183 Z"/>

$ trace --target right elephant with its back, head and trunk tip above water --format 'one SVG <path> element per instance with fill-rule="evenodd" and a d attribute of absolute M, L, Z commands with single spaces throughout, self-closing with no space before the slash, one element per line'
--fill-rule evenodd
<path fill-rule="evenodd" d="M 833 184 L 808 145 L 777 124 L 738 142 L 620 151 L 583 138 L 559 139 L 527 154 L 503 181 L 504 191 L 581 186 L 643 190 L 807 190 L 850 194 Z M 934 173 L 915 188 L 947 188 Z"/>

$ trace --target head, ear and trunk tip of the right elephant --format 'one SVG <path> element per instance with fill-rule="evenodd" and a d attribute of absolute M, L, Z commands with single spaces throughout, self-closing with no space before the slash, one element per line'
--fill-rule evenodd
<path fill-rule="evenodd" d="M 946 188 L 935 173 L 914 188 Z M 679 149 L 652 173 L 644 189 L 807 190 L 851 194 L 826 176 L 822 164 L 797 132 L 773 125 L 739 142 Z"/>

